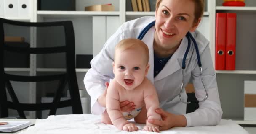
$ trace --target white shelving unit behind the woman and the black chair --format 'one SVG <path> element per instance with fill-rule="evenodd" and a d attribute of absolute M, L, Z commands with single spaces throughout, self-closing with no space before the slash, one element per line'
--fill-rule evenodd
<path fill-rule="evenodd" d="M 234 12 L 237 13 L 237 70 L 235 71 L 219 71 L 217 70 L 217 82 L 219 94 L 221 98 L 221 106 L 223 108 L 224 119 L 233 119 L 238 124 L 256 124 L 256 121 L 243 121 L 243 81 L 256 80 L 256 62 L 254 58 L 256 53 L 255 23 L 256 23 L 256 1 L 245 0 L 245 7 L 223 7 L 223 0 L 207 0 L 204 12 L 203 22 L 198 28 L 210 41 L 211 54 L 213 64 L 215 64 L 215 14 L 218 12 Z M 120 24 L 134 18 L 142 16 L 154 16 L 155 12 L 132 12 L 131 5 L 127 0 L 76 0 L 76 11 L 40 11 L 37 10 L 37 0 L 31 0 L 32 13 L 31 17 L 3 17 L 17 21 L 63 21 L 71 20 L 75 30 L 76 54 L 92 54 L 93 53 L 93 36 L 92 36 L 92 18 L 93 16 L 117 16 Z M 115 11 L 112 12 L 94 12 L 84 11 L 85 6 L 113 3 Z M 216 6 L 215 6 L 216 5 Z M 240 26 L 243 25 L 243 26 Z M 251 25 L 251 26 L 250 26 Z M 244 30 L 243 30 L 244 29 Z M 249 33 L 245 33 L 249 31 Z M 37 34 L 31 31 L 31 46 L 36 47 Z M 246 37 L 246 36 L 248 37 Z M 250 38 L 251 37 L 251 38 Z M 244 42 L 244 43 L 243 43 Z M 248 52 L 252 56 L 243 55 Z M 252 52 L 253 51 L 253 52 Z M 244 60 L 246 59 L 246 60 Z M 56 60 L 53 58 L 53 60 Z M 254 61 L 254 62 L 253 62 Z M 36 73 L 53 73 L 65 71 L 61 67 L 52 67 L 51 64 L 40 62 L 39 57 L 30 57 L 31 68 L 5 68 L 10 72 L 30 72 L 30 75 Z M 88 69 L 76 69 L 79 88 L 84 89 L 83 77 Z M 30 84 L 30 102 L 36 100 L 36 85 Z M 234 112 L 236 111 L 236 112 Z M 33 117 L 33 115 L 31 116 Z"/>

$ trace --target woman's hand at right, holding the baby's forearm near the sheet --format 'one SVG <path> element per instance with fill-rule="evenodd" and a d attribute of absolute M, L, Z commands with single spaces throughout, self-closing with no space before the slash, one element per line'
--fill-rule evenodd
<path fill-rule="evenodd" d="M 148 119 L 147 121 L 151 124 L 160 126 L 160 131 L 168 130 L 172 127 L 187 126 L 187 119 L 184 115 L 168 113 L 161 108 L 156 109 L 155 111 L 161 115 L 162 121 L 156 119 Z"/>

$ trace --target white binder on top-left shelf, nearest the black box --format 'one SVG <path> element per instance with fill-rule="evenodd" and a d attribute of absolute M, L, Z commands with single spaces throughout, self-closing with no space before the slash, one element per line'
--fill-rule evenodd
<path fill-rule="evenodd" d="M 31 0 L 18 0 L 18 16 L 29 17 L 30 16 L 30 1 Z"/>

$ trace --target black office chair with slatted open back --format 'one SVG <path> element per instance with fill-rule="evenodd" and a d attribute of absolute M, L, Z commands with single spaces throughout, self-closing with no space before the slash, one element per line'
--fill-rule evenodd
<path fill-rule="evenodd" d="M 55 27 L 61 26 L 64 28 L 64 46 L 55 47 L 20 47 L 20 46 L 10 46 L 4 42 L 4 25 L 13 26 L 26 26 L 26 27 Z M 42 23 L 31 23 L 31 22 L 20 22 L 11 21 L 7 19 L 0 18 L 0 51 L 1 61 L 5 60 L 5 52 L 17 52 L 25 54 L 53 54 L 53 53 L 65 53 L 66 62 L 66 72 L 55 75 L 36 75 L 36 76 L 24 76 L 24 75 L 13 75 L 5 72 L 4 64 L 1 64 L 1 87 L 0 88 L 0 117 L 8 117 L 8 109 L 17 110 L 21 118 L 26 118 L 24 111 L 42 111 L 50 110 L 49 115 L 55 115 L 57 108 L 63 108 L 72 106 L 73 114 L 82 114 L 82 106 L 79 95 L 79 89 L 77 84 L 77 77 L 75 72 L 75 37 L 74 29 L 71 21 L 59 21 L 59 22 L 42 22 Z M 20 103 L 19 99 L 14 93 L 11 81 L 17 82 L 49 82 L 49 81 L 59 81 L 58 88 L 51 103 Z M 60 101 L 61 95 L 64 92 L 65 86 L 68 85 L 68 90 L 70 93 L 70 99 L 65 101 Z M 8 91 L 11 101 L 7 100 Z M 19 89 L 22 90 L 22 89 Z M 36 89 L 33 89 L 36 90 Z"/>

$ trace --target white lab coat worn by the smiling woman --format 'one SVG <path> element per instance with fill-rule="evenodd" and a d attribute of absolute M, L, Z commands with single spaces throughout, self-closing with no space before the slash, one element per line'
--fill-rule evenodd
<path fill-rule="evenodd" d="M 118 30 L 106 41 L 103 49 L 91 61 L 91 69 L 85 75 L 84 83 L 88 94 L 91 96 L 91 112 L 101 114 L 105 108 L 97 102 L 97 98 L 105 90 L 105 82 L 114 78 L 112 72 L 112 62 L 114 59 L 115 45 L 122 39 L 137 38 L 139 33 L 155 17 L 142 17 L 128 21 L 118 28 Z M 153 26 L 146 33 L 142 41 L 149 48 L 149 73 L 147 78 L 154 83 L 160 101 L 160 107 L 174 114 L 184 114 L 187 119 L 187 126 L 208 126 L 216 125 L 221 120 L 222 109 L 219 100 L 219 93 L 216 84 L 216 73 L 211 59 L 209 41 L 198 31 L 192 33 L 197 41 L 202 69 L 203 80 L 208 91 L 208 99 L 199 103 L 199 108 L 192 113 L 186 114 L 186 104 L 179 100 L 179 92 L 182 82 L 181 63 L 187 49 L 187 38 L 182 39 L 179 48 L 165 64 L 162 71 L 154 78 L 154 39 L 155 27 Z M 192 44 L 186 59 L 186 69 L 184 73 L 184 85 L 192 80 L 197 100 L 205 98 L 205 90 L 200 79 L 199 67 L 195 47 Z M 184 90 L 183 90 L 184 91 Z M 186 101 L 186 93 L 182 93 L 182 98 Z"/>

